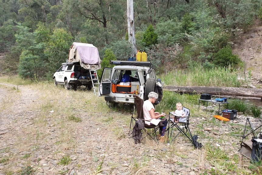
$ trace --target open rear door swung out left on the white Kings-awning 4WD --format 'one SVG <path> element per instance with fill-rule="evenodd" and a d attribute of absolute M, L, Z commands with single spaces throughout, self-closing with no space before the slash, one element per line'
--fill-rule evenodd
<path fill-rule="evenodd" d="M 112 68 L 104 68 L 102 77 L 99 83 L 99 96 L 108 95 L 111 92 L 111 73 Z"/>

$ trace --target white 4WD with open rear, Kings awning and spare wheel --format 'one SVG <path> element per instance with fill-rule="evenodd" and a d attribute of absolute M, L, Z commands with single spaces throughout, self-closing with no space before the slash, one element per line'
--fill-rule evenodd
<path fill-rule="evenodd" d="M 109 106 L 117 103 L 134 103 L 133 95 L 148 99 L 152 91 L 159 94 L 158 104 L 162 99 L 161 79 L 156 78 L 151 62 L 141 61 L 110 61 L 113 68 L 104 68 L 99 84 L 99 96 L 105 96 Z M 131 71 L 130 82 L 122 83 L 126 70 Z"/>

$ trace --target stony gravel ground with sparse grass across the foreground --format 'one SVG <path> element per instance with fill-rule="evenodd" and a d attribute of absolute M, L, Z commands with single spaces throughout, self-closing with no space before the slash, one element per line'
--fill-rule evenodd
<path fill-rule="evenodd" d="M 53 123 L 53 111 L 45 116 L 43 123 L 39 123 L 41 111 L 32 110 L 32 107 L 41 104 L 39 94 L 45 94 L 40 90 L 0 83 L 0 93 L 0 175 L 211 174 L 212 169 L 217 167 L 208 161 L 207 145 L 222 149 L 229 158 L 239 156 L 241 161 L 229 161 L 251 173 L 247 168 L 250 160 L 237 152 L 241 138 L 230 135 L 232 131 L 243 130 L 246 117 L 241 114 L 234 121 L 221 122 L 220 127 L 208 124 L 212 121 L 211 115 L 192 116 L 192 135 L 199 130 L 203 133 L 198 135 L 198 141 L 203 144 L 203 148 L 198 150 L 183 135 L 170 145 L 157 145 L 149 139 L 134 144 L 128 135 L 129 124 L 119 126 L 123 135 L 115 135 L 110 125 L 99 121 L 101 113 L 89 115 L 83 112 L 84 120 L 67 123 L 72 128 L 71 132 L 67 132 Z M 60 98 L 57 96 L 57 99 Z M 214 106 L 208 108 L 212 110 Z M 114 112 L 108 115 L 113 115 L 116 124 L 121 123 Z M 252 117 L 251 120 L 256 121 Z M 57 119 L 56 122 L 62 121 Z M 203 129 L 199 129 L 200 125 Z M 61 140 L 64 142 L 60 143 Z M 68 165 L 61 163 L 66 162 L 66 158 L 71 160 Z"/>

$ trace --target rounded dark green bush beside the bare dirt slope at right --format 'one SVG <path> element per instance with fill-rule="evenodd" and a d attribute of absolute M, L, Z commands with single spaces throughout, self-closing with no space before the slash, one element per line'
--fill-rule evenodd
<path fill-rule="evenodd" d="M 232 53 L 231 46 L 227 45 L 226 47 L 223 47 L 214 54 L 214 61 L 213 63 L 215 65 L 219 66 L 227 66 L 227 65 L 237 65 L 241 62 L 239 56 L 234 55 Z"/>

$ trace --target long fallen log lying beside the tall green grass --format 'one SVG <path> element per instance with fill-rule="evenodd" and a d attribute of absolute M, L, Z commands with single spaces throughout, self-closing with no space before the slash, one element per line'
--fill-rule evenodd
<path fill-rule="evenodd" d="M 163 90 L 177 93 L 209 93 L 216 96 L 246 96 L 262 99 L 262 89 L 236 87 L 205 87 L 205 86 L 163 86 Z"/>

